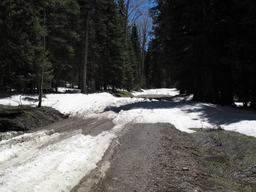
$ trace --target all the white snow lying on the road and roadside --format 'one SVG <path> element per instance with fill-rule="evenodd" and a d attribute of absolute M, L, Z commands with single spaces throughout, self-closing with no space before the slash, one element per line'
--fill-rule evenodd
<path fill-rule="evenodd" d="M 137 95 L 177 95 L 175 89 L 144 90 Z M 19 95 L 0 99 L 17 105 Z M 22 104 L 37 104 L 37 95 L 22 96 Z M 186 132 L 216 125 L 256 137 L 256 112 L 203 102 L 149 101 L 116 98 L 110 93 L 46 94 L 44 106 L 81 118 L 110 118 L 115 126 L 97 136 L 81 130 L 50 134 L 49 130 L 0 142 L 0 191 L 70 191 L 96 168 L 110 142 L 128 123 L 168 122 Z"/>

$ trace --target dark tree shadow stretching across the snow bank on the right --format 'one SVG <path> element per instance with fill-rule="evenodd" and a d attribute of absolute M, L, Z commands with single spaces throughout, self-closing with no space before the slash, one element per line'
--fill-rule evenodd
<path fill-rule="evenodd" d="M 183 116 L 192 116 L 192 120 L 200 120 L 208 122 L 212 125 L 229 125 L 241 121 L 255 121 L 256 112 L 239 108 L 229 108 L 218 106 L 204 102 L 167 102 L 167 101 L 151 101 L 151 102 L 136 102 L 126 104 L 124 106 L 115 107 L 107 106 L 103 112 L 113 111 L 119 113 L 121 110 L 128 111 L 132 109 L 168 109 L 168 113 L 172 113 L 172 109 L 179 109 Z M 177 110 L 173 111 L 174 113 Z M 177 114 L 178 115 L 178 114 Z"/>

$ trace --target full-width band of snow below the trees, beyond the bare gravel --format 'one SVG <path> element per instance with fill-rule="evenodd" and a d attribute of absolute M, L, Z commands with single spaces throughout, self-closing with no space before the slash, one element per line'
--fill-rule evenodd
<path fill-rule="evenodd" d="M 176 89 L 143 90 L 134 95 L 162 94 L 177 95 Z M 12 100 L 18 100 L 19 95 L 12 96 Z M 179 97 L 175 101 L 179 101 Z M 0 99 L 0 104 L 17 105 L 8 99 Z M 33 104 L 37 95 L 22 96 L 23 104 Z M 142 102 L 144 101 L 144 102 Z M 46 94 L 43 98 L 44 106 L 52 106 L 64 114 L 84 117 L 102 116 L 106 118 L 118 118 L 123 115 L 126 121 L 137 122 L 169 122 L 176 128 L 192 132 L 190 128 L 212 127 L 218 124 L 226 130 L 236 130 L 249 136 L 256 136 L 255 112 L 216 106 L 202 102 L 145 102 L 142 98 L 116 98 L 110 93 L 95 94 Z M 114 108 L 120 108 L 119 114 L 111 112 Z M 121 112 L 121 110 L 124 110 Z M 108 112 L 110 111 L 110 112 Z M 102 113 L 103 114 L 100 114 Z M 113 120 L 115 121 L 115 120 Z M 201 124 L 202 122 L 202 124 Z"/>

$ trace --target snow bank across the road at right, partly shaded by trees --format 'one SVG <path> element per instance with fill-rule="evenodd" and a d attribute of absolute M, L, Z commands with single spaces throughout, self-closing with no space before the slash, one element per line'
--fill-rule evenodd
<path fill-rule="evenodd" d="M 204 102 L 137 102 L 116 108 L 112 114 L 115 124 L 132 123 L 170 123 L 177 129 L 188 133 L 190 128 L 213 128 L 222 126 L 256 137 L 256 112 L 227 108 Z M 111 117 L 103 113 L 102 117 Z"/>

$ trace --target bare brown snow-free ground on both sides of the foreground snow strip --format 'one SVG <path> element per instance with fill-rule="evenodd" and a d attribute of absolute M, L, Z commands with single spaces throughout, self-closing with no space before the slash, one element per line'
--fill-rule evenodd
<path fill-rule="evenodd" d="M 84 135 L 97 135 L 112 126 L 111 120 L 68 118 L 48 107 L 0 105 L 1 129 L 82 129 Z M 98 168 L 72 191 L 256 192 L 256 138 L 220 127 L 194 130 L 188 134 L 168 123 L 128 124 Z"/>

